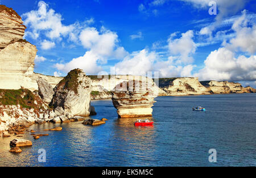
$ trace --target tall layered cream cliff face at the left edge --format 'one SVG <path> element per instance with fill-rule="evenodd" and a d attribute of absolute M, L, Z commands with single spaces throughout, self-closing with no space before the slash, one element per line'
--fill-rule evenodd
<path fill-rule="evenodd" d="M 16 12 L 0 5 L 0 88 L 30 88 L 36 46 L 23 40 L 25 26 Z"/>

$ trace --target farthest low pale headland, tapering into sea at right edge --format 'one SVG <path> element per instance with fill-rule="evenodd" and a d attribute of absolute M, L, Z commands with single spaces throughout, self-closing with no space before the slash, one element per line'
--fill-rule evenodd
<path fill-rule="evenodd" d="M 217 82 L 217 81 L 203 81 L 201 82 L 205 87 L 213 91 L 214 94 L 242 94 L 255 92 L 251 87 L 242 87 L 241 83 L 236 82 Z"/>

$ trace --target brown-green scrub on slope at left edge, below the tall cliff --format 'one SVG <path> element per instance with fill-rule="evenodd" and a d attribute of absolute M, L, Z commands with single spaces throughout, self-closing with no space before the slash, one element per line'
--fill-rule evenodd
<path fill-rule="evenodd" d="M 2 105 L 20 105 L 22 108 L 39 108 L 40 105 L 35 104 L 36 96 L 25 88 L 19 90 L 3 90 L 0 89 L 0 104 Z M 38 101 L 36 103 L 39 104 Z"/>

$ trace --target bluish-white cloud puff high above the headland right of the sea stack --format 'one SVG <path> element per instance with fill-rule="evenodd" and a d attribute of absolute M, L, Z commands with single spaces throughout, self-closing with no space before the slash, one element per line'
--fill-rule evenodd
<path fill-rule="evenodd" d="M 192 54 L 196 52 L 196 44 L 193 41 L 193 31 L 189 30 L 174 39 L 177 33 L 172 33 L 168 39 L 168 48 L 171 54 L 179 56 L 178 63 L 192 63 Z"/>

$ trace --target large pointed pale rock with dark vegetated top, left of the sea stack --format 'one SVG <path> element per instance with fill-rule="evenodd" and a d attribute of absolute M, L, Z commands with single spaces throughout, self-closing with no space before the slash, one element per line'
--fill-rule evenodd
<path fill-rule="evenodd" d="M 71 70 L 54 88 L 55 94 L 49 105 L 63 108 L 71 117 L 89 116 L 91 82 L 81 69 Z"/>

